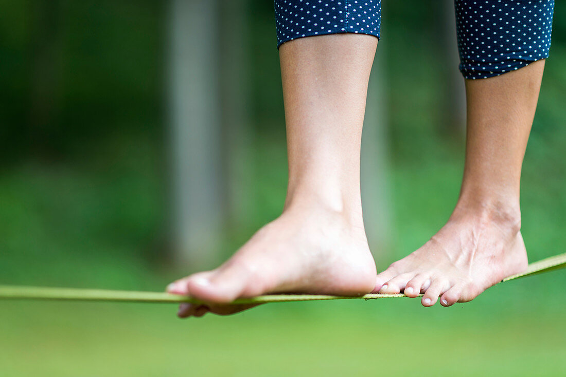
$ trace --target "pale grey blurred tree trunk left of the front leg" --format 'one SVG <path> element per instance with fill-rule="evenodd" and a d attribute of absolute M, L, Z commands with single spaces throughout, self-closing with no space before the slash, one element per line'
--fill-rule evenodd
<path fill-rule="evenodd" d="M 173 247 L 190 270 L 217 257 L 222 228 L 218 0 L 171 0 Z"/>

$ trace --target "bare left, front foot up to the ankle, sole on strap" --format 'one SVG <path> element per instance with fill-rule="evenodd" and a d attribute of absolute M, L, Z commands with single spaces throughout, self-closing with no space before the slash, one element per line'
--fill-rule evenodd
<path fill-rule="evenodd" d="M 286 209 L 224 265 L 169 285 L 170 293 L 207 302 L 181 305 L 179 317 L 235 313 L 251 306 L 222 304 L 267 293 L 370 292 L 375 287 L 375 263 L 361 213 L 355 217 L 359 219 L 322 206 Z"/>

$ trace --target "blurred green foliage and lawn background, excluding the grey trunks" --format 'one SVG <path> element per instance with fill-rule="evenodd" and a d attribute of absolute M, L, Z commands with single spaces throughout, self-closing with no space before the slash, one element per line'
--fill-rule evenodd
<path fill-rule="evenodd" d="M 242 92 L 218 86 L 225 97 L 245 90 L 245 153 L 218 138 L 234 161 L 217 172 L 232 177 L 228 199 L 212 257 L 191 259 L 199 250 L 179 252 L 173 235 L 171 4 L 0 1 L 0 284 L 160 291 L 217 265 L 280 213 L 285 130 L 272 2 L 211 3 L 245 30 L 232 51 L 241 66 L 231 71 L 228 60 L 229 74 L 218 76 L 243 83 Z M 445 3 L 383 5 L 380 101 L 368 101 L 387 114 L 378 124 L 387 147 L 378 199 L 388 208 L 383 241 L 372 242 L 378 268 L 427 241 L 458 196 L 464 132 L 447 88 L 462 82 L 446 73 L 456 41 L 445 35 Z M 566 250 L 563 3 L 553 28 L 522 181 L 531 261 Z M 564 272 L 551 272 L 451 308 L 409 299 L 271 304 L 185 321 L 170 305 L 3 301 L 0 376 L 565 375 L 565 283 Z"/>

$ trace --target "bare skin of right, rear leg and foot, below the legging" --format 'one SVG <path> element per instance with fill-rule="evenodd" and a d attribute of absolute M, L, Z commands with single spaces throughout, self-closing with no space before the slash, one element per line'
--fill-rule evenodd
<path fill-rule="evenodd" d="M 521 165 L 544 60 L 498 77 L 466 80 L 468 135 L 460 198 L 424 246 L 378 275 L 376 291 L 432 306 L 470 301 L 527 266 L 519 209 Z"/>

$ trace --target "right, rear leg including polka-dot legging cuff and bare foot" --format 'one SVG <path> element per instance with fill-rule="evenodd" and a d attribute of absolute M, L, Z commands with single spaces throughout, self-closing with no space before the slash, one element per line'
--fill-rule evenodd
<path fill-rule="evenodd" d="M 525 154 L 554 0 L 454 0 L 468 140 L 460 198 L 422 248 L 378 275 L 374 291 L 432 306 L 470 301 L 527 265 L 519 209 Z M 474 80 L 481 79 L 481 80 Z"/>

